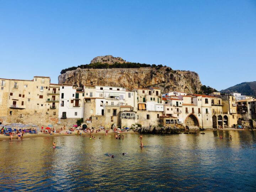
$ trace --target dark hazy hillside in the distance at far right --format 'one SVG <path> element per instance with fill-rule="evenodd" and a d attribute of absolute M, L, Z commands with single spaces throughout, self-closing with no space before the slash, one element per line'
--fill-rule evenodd
<path fill-rule="evenodd" d="M 242 95 L 254 96 L 256 97 L 256 81 L 252 82 L 242 82 L 228 89 L 221 90 L 222 93 L 241 93 Z"/>

